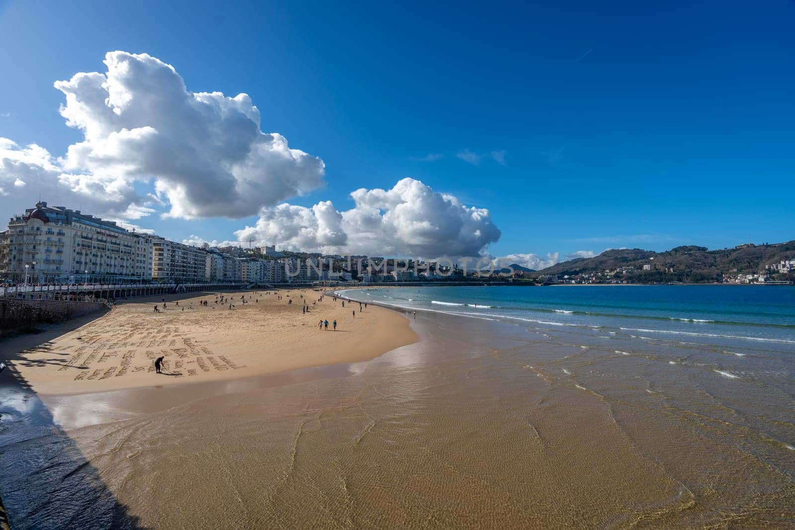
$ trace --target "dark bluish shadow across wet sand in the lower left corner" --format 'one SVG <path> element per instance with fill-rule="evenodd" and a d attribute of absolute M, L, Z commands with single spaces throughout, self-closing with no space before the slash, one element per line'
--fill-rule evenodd
<path fill-rule="evenodd" d="M 62 324 L 32 342 L 47 346 L 87 321 Z M 144 528 L 14 369 L 26 361 L 7 346 L 0 339 L 0 361 L 10 365 L 0 373 L 0 497 L 10 528 Z"/>

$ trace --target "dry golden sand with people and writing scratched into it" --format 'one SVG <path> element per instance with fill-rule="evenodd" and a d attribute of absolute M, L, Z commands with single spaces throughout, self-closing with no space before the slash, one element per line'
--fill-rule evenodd
<path fill-rule="evenodd" d="M 321 295 L 292 289 L 138 298 L 83 319 L 79 327 L 56 327 L 44 342 L 39 335 L 6 339 L 4 357 L 35 392 L 65 395 L 358 362 L 417 340 L 409 320 L 395 311 L 372 306 L 359 311 L 359 304 L 343 308 L 331 296 L 319 301 Z M 226 297 L 223 304 L 216 303 L 220 296 Z M 301 310 L 304 300 L 308 313 Z M 153 311 L 155 305 L 160 313 Z M 328 320 L 328 331 L 318 329 L 321 319 Z M 161 356 L 158 374 L 154 360 Z"/>

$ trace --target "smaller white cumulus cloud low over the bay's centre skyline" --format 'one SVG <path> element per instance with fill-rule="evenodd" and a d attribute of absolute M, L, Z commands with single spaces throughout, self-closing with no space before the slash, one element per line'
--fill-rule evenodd
<path fill-rule="evenodd" d="M 406 178 L 394 188 L 358 189 L 355 206 L 337 211 L 330 202 L 311 208 L 266 207 L 238 240 L 305 252 L 384 256 L 478 256 L 499 239 L 488 210 L 467 207 L 453 195 Z"/>

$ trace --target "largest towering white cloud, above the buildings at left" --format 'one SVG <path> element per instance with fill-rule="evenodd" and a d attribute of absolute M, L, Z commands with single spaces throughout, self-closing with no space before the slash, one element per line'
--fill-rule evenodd
<path fill-rule="evenodd" d="M 106 73 L 55 83 L 66 96 L 60 114 L 83 141 L 57 159 L 0 142 L 0 193 L 18 195 L 33 181 L 57 202 L 78 195 L 101 215 L 134 219 L 159 202 L 173 217 L 242 218 L 324 183 L 323 161 L 263 133 L 248 95 L 188 91 L 147 54 L 109 52 L 104 63 Z M 138 196 L 136 180 L 153 182 L 156 196 Z"/>

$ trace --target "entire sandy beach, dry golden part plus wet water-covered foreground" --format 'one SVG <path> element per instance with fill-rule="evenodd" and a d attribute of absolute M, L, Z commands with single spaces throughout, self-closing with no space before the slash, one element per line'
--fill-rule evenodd
<path fill-rule="evenodd" d="M 11 527 L 793 526 L 789 395 L 760 411 L 758 387 L 687 377 L 660 341 L 431 311 L 409 327 L 328 296 L 302 315 L 298 296 L 320 294 L 289 294 L 161 315 L 136 300 L 11 341 L 46 335 L 11 362 L 52 392 L 0 385 Z M 321 315 L 351 332 L 318 331 Z M 146 368 L 117 376 L 128 350 Z M 167 372 L 196 375 L 149 371 L 164 350 Z M 96 355 L 64 369 L 79 353 Z"/>

